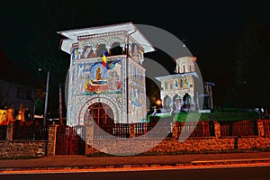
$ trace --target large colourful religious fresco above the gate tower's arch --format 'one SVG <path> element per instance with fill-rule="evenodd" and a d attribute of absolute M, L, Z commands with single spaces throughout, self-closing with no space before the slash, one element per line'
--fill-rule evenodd
<path fill-rule="evenodd" d="M 77 66 L 77 94 L 120 94 L 121 59 Z"/>

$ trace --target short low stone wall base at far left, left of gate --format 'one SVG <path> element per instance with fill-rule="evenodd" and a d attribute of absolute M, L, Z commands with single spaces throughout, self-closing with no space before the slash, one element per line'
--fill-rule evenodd
<path fill-rule="evenodd" d="M 39 157 L 46 141 L 0 141 L 0 157 Z"/>

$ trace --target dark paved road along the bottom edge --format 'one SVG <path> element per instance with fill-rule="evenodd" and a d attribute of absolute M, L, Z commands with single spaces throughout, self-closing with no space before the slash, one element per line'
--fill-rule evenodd
<path fill-rule="evenodd" d="M 59 179 L 98 179 L 98 180 L 170 180 L 170 179 L 245 179 L 245 180 L 269 180 L 270 166 L 261 167 L 234 167 L 211 169 L 187 169 L 187 170 L 152 170 L 136 172 L 92 172 L 92 173 L 60 173 L 60 174 L 30 174 L 30 175 L 0 175 L 0 180 L 59 180 Z"/>

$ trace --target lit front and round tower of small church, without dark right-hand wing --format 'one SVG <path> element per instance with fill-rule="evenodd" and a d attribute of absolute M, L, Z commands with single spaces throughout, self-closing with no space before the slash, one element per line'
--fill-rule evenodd
<path fill-rule="evenodd" d="M 156 77 L 161 82 L 160 97 L 163 112 L 195 111 L 198 104 L 195 57 L 175 60 L 175 75 Z"/>

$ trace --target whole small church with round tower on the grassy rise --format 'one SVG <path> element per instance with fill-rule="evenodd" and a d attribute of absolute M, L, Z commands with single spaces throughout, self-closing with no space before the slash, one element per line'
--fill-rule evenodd
<path fill-rule="evenodd" d="M 196 57 L 175 60 L 175 74 L 158 76 L 161 112 L 211 112 L 214 108 L 211 82 L 202 82 Z"/>

